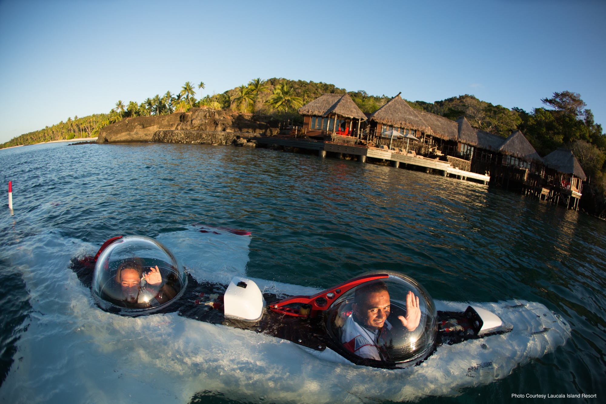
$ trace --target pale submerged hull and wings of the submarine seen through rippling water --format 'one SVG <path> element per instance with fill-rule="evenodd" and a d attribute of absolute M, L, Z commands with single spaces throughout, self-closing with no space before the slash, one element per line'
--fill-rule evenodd
<path fill-rule="evenodd" d="M 193 230 L 158 239 L 200 280 L 228 283 L 235 274 L 245 275 L 250 237 Z M 1 247 L 8 263 L 21 269 L 33 306 L 15 363 L 0 388 L 2 402 L 188 402 L 204 390 L 276 403 L 454 396 L 506 377 L 570 337 L 570 326 L 539 303 L 474 303 L 495 312 L 513 331 L 441 346 L 408 369 L 326 362 L 294 343 L 174 313 L 127 318 L 101 311 L 67 268 L 70 258 L 97 248 L 51 232 Z M 285 294 L 316 291 L 271 281 L 258 284 Z M 468 305 L 436 304 L 461 311 Z"/>

